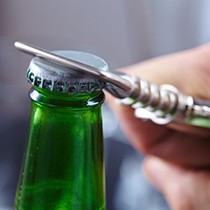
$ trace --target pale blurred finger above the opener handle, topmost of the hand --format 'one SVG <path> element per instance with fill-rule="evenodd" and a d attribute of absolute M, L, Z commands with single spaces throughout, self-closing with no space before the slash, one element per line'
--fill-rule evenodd
<path fill-rule="evenodd" d="M 121 69 L 157 84 L 172 84 L 185 94 L 210 99 L 210 44 Z"/>

